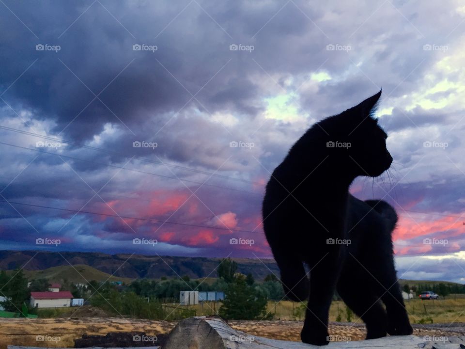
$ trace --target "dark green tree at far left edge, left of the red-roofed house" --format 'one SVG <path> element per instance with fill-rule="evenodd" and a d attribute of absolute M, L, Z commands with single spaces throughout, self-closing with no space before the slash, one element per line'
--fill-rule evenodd
<path fill-rule="evenodd" d="M 13 276 L 3 286 L 1 292 L 7 300 L 0 302 L 0 305 L 2 305 L 6 311 L 21 312 L 23 303 L 28 303 L 31 297 L 31 292 L 28 288 L 28 279 L 24 276 L 23 270 L 14 270 Z"/>

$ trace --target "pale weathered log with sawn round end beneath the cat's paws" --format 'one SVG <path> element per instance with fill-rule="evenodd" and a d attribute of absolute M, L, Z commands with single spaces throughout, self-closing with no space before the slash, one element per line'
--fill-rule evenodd
<path fill-rule="evenodd" d="M 463 343 L 463 341 L 460 341 Z M 163 349 L 310 349 L 321 348 L 299 342 L 268 339 L 236 331 L 220 317 L 191 317 L 178 323 L 171 331 Z M 414 335 L 387 336 L 384 338 L 330 342 L 328 349 L 459 349 L 461 344 L 435 343 Z"/>

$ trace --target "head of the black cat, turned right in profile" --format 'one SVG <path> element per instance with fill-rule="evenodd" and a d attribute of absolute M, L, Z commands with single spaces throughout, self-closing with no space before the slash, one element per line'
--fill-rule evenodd
<path fill-rule="evenodd" d="M 354 176 L 376 177 L 386 171 L 392 157 L 386 147 L 386 132 L 373 117 L 381 91 L 341 114 L 325 119 L 327 155 Z"/>

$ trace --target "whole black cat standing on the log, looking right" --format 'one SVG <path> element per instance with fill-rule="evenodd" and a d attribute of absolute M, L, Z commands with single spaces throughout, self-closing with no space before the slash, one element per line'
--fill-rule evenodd
<path fill-rule="evenodd" d="M 266 185 L 263 229 L 287 297 L 308 300 L 305 343 L 328 343 L 336 289 L 365 322 L 367 339 L 412 333 L 394 269 L 397 214 L 384 201 L 349 193 L 357 176 L 379 176 L 392 162 L 373 118 L 380 95 L 310 127 Z"/>

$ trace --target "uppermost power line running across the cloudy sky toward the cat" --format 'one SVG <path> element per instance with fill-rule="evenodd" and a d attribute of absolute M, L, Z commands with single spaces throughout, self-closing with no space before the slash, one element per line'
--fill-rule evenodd
<path fill-rule="evenodd" d="M 38 133 L 24 131 L 24 130 L 20 130 L 20 129 L 13 128 L 13 127 L 6 127 L 6 126 L 3 126 L 3 125 L 0 125 L 0 128 L 4 129 L 4 130 L 7 130 L 7 131 L 21 133 L 21 134 L 25 134 L 25 135 L 29 135 L 29 136 L 40 137 L 40 138 L 55 141 L 55 142 L 67 143 L 67 144 L 71 144 L 71 145 L 77 145 L 77 146 L 82 147 L 82 148 L 87 148 L 87 149 L 107 153 L 107 154 L 110 154 L 110 155 L 118 155 L 118 156 L 121 156 L 121 157 L 123 157 L 125 159 L 130 159 L 126 155 L 123 155 L 123 154 L 118 153 L 118 152 L 113 152 L 113 151 L 107 150 L 107 149 L 102 149 L 102 148 L 97 148 L 97 147 L 93 147 L 93 146 L 85 145 L 85 144 L 81 144 L 81 143 L 75 143 L 75 142 L 71 142 L 71 141 L 61 140 L 59 138 L 44 136 L 44 135 L 41 135 L 41 134 L 38 134 Z M 146 162 L 151 162 L 151 163 L 155 163 L 155 164 L 159 164 L 159 165 L 165 165 L 165 166 L 168 166 L 168 167 L 173 167 L 173 168 L 181 169 L 181 170 L 184 170 L 184 171 L 191 171 L 191 172 L 196 172 L 196 173 L 201 173 L 201 174 L 209 174 L 209 175 L 216 176 L 216 177 L 221 177 L 221 178 L 225 178 L 225 179 L 231 179 L 231 180 L 236 180 L 236 181 L 241 181 L 241 182 L 245 182 L 245 183 L 251 183 L 251 184 L 263 186 L 263 183 L 250 181 L 248 179 L 235 178 L 235 177 L 227 176 L 227 175 L 224 175 L 224 174 L 217 174 L 217 173 L 212 173 L 212 172 L 208 172 L 208 171 L 191 169 L 189 167 L 180 166 L 180 165 L 172 165 L 172 164 L 168 164 L 166 162 L 156 161 L 156 160 L 147 159 L 147 158 L 143 158 L 143 157 L 137 157 L 136 156 L 136 157 L 134 157 L 134 159 L 138 159 L 138 160 L 142 160 L 142 161 L 146 161 Z"/>

